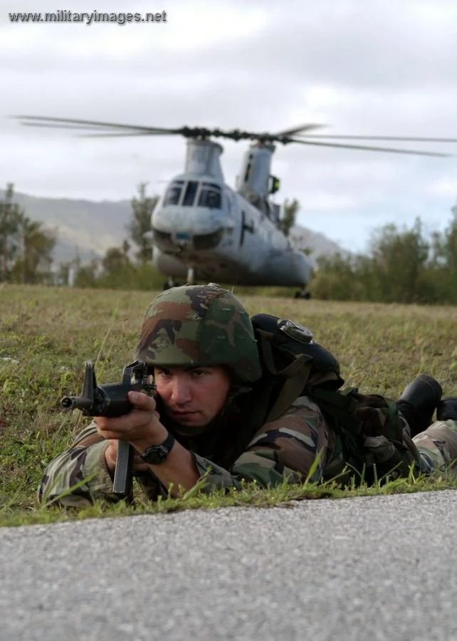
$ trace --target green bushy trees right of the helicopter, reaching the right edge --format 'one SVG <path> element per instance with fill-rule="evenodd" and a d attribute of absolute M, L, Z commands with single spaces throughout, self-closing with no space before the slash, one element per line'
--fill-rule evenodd
<path fill-rule="evenodd" d="M 366 254 L 321 257 L 310 290 L 332 301 L 457 304 L 457 209 L 443 232 L 387 224 L 372 234 Z"/>

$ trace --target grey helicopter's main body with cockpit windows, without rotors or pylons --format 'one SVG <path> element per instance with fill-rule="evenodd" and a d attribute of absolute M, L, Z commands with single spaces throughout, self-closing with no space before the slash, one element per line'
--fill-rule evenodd
<path fill-rule="evenodd" d="M 305 287 L 311 266 L 266 210 L 214 175 L 181 174 L 152 214 L 154 265 L 173 278 Z"/>

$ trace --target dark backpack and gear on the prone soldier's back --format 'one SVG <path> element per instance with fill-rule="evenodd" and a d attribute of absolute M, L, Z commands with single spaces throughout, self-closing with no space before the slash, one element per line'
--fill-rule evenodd
<path fill-rule="evenodd" d="M 411 466 L 420 470 L 419 452 L 395 400 L 361 394 L 357 387 L 342 390 L 337 359 L 302 325 L 264 313 L 252 316 L 251 323 L 263 368 L 256 390 L 258 427 L 305 395 L 340 435 L 348 463 L 365 482 L 407 476 Z"/>

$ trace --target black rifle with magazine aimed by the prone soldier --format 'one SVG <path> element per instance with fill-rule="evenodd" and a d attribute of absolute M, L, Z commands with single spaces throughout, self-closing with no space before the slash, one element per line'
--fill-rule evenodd
<path fill-rule="evenodd" d="M 97 385 L 93 363 L 86 361 L 83 392 L 80 396 L 65 396 L 61 400 L 64 410 L 78 409 L 84 416 L 118 417 L 128 414 L 133 405 L 128 392 L 145 392 L 152 395 L 156 386 L 152 381 L 146 363 L 135 360 L 122 372 L 122 382 Z M 119 441 L 113 494 L 132 502 L 133 447 L 127 441 Z"/>

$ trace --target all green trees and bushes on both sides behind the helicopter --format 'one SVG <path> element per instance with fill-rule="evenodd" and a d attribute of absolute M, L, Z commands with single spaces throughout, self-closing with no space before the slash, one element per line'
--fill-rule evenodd
<path fill-rule="evenodd" d="M 61 264 L 58 283 L 149 291 L 162 288 L 164 276 L 151 264 L 151 215 L 159 197 L 147 196 L 146 187 L 140 184 L 132 199 L 122 244 L 85 264 L 78 256 Z M 286 236 L 299 209 L 298 200 L 285 201 L 279 226 Z M 51 277 L 56 241 L 43 223 L 31 221 L 14 204 L 13 185 L 9 184 L 0 202 L 0 281 L 56 282 L 56 273 Z M 456 304 L 457 208 L 443 232 L 426 236 L 419 218 L 411 228 L 387 224 L 374 230 L 364 254 L 320 257 L 309 290 L 314 298 L 323 300 Z"/>

